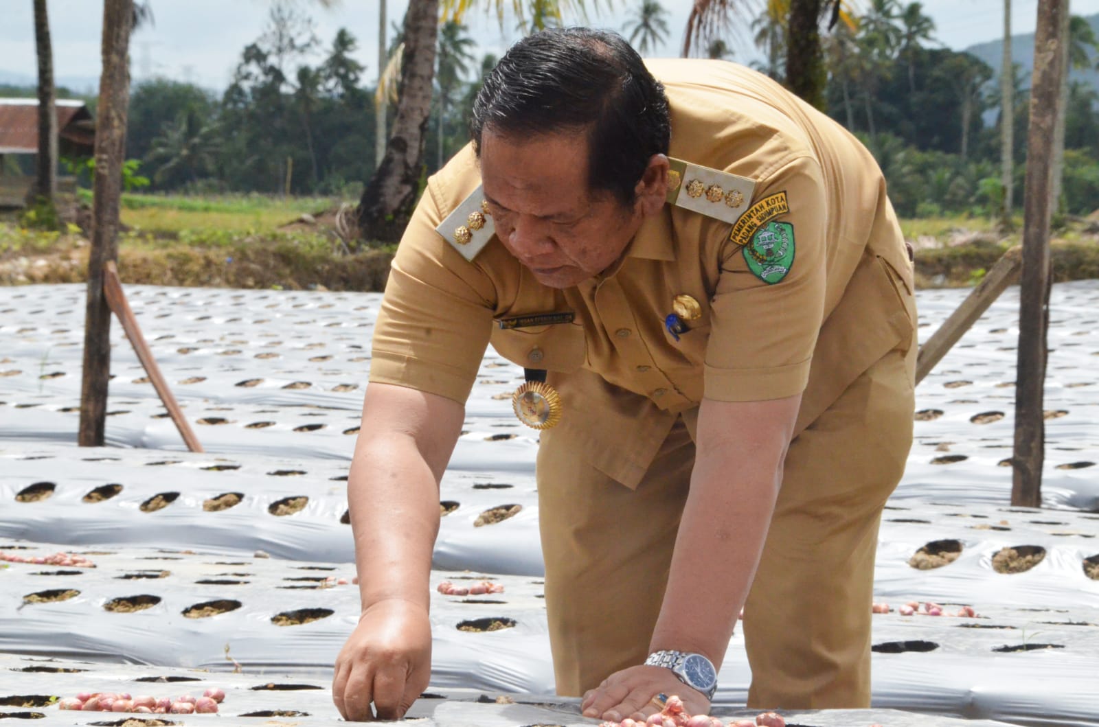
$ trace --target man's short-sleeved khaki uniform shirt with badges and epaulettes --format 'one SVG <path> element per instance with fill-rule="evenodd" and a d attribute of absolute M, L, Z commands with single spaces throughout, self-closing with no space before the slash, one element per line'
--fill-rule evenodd
<path fill-rule="evenodd" d="M 742 66 L 647 65 L 668 96 L 670 157 L 735 175 L 731 183 L 754 181 L 742 210 L 785 193 L 789 210 L 773 219 L 792 230 L 789 272 L 768 282 L 750 267 L 753 245 L 743 243 L 759 205 L 734 224 L 728 210 L 718 213 L 725 219 L 697 211 L 709 209 L 698 200 L 647 217 L 611 268 L 575 288 L 539 283 L 495 237 L 466 260 L 436 226 L 479 189 L 467 146 L 429 179 L 404 233 L 370 368 L 370 381 L 464 403 L 491 343 L 520 366 L 550 370 L 563 390 L 563 421 L 544 440 L 552 435 L 628 486 L 703 396 L 802 393 L 800 430 L 870 363 L 910 346 L 914 331 L 911 266 L 885 181 L 851 134 Z M 689 168 L 679 181 L 691 181 Z M 701 316 L 677 342 L 665 317 L 679 294 L 698 301 Z M 566 311 L 571 323 L 495 323 Z"/>

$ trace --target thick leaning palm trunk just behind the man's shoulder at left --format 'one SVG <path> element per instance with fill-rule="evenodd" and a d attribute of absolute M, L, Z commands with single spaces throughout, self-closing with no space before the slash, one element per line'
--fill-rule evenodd
<path fill-rule="evenodd" d="M 393 133 L 358 203 L 359 235 L 365 241 L 398 241 L 412 214 L 431 118 L 437 35 L 439 0 L 411 0 L 404 14 L 404 58 Z"/>

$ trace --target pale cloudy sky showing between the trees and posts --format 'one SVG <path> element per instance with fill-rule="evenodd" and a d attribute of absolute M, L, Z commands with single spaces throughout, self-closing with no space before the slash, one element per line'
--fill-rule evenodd
<path fill-rule="evenodd" d="M 387 3 L 387 25 L 399 22 L 407 0 L 337 0 L 325 10 L 311 0 L 299 5 L 313 18 L 321 47 L 331 47 L 340 27 L 347 27 L 358 40 L 356 58 L 366 70 L 364 83 L 373 85 L 378 74 L 378 2 Z M 856 8 L 869 0 L 852 0 Z M 904 2 L 904 0 L 902 0 Z M 229 85 L 245 45 L 263 33 L 270 0 L 151 0 L 154 24 L 134 33 L 131 44 L 135 82 L 154 76 L 198 83 L 218 92 Z M 476 3 L 486 7 L 484 0 Z M 510 1 L 503 4 L 511 5 Z M 587 3 L 589 7 L 592 3 Z M 641 0 L 600 0 L 598 14 L 587 24 L 623 31 Z M 679 55 L 689 0 L 663 0 L 668 10 L 667 41 L 654 56 Z M 1012 0 L 1013 34 L 1031 33 L 1037 14 L 1037 0 Z M 754 7 L 754 5 L 753 5 Z M 955 51 L 977 43 L 995 41 L 1003 34 L 1002 0 L 923 0 L 924 13 L 935 22 L 935 40 Z M 67 80 L 78 92 L 97 87 L 100 65 L 102 2 L 95 0 L 49 0 L 55 78 Z M 1099 0 L 1074 0 L 1073 12 L 1089 15 L 1099 12 Z M 501 32 L 496 16 L 474 9 L 467 15 L 470 35 L 478 44 L 478 56 L 501 54 L 518 40 L 513 18 L 504 20 Z M 577 21 L 566 18 L 566 22 Z M 576 23 L 579 24 L 579 23 Z M 741 25 L 746 25 L 742 22 Z M 751 35 L 741 33 L 726 41 L 734 49 L 733 60 L 750 63 L 758 58 Z M 317 63 L 319 56 L 311 59 Z M 27 0 L 0 0 L 0 82 L 33 83 L 36 75 L 34 19 Z"/>

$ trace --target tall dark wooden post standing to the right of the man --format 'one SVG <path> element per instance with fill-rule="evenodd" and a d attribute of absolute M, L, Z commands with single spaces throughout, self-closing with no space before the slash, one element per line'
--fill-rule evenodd
<path fill-rule="evenodd" d="M 1023 193 L 1023 271 L 1019 305 L 1019 357 L 1015 369 L 1015 440 L 1011 504 L 1042 505 L 1045 461 L 1043 393 L 1050 324 L 1050 187 L 1057 93 L 1065 72 L 1061 44 L 1063 0 L 1039 0 L 1031 78 L 1030 131 L 1026 138 L 1026 187 Z"/>

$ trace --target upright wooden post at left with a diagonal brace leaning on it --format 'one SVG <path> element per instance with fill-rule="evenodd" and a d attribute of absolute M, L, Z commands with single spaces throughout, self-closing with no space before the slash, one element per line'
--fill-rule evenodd
<path fill-rule="evenodd" d="M 130 103 L 130 25 L 133 0 L 103 3 L 102 75 L 96 122 L 96 171 L 92 180 L 91 253 L 88 257 L 88 302 L 84 324 L 84 377 L 80 391 L 81 447 L 104 441 L 107 389 L 111 371 L 111 309 L 103 293 L 103 266 L 119 257 L 119 199 L 126 149 Z"/>

